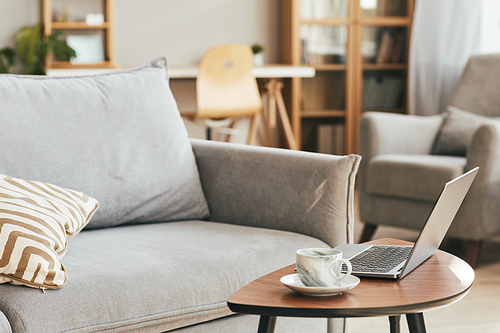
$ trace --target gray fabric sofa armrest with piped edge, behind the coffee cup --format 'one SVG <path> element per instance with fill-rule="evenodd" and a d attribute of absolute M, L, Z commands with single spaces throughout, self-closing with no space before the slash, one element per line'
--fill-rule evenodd
<path fill-rule="evenodd" d="M 360 156 L 192 139 L 211 221 L 353 241 Z"/>

